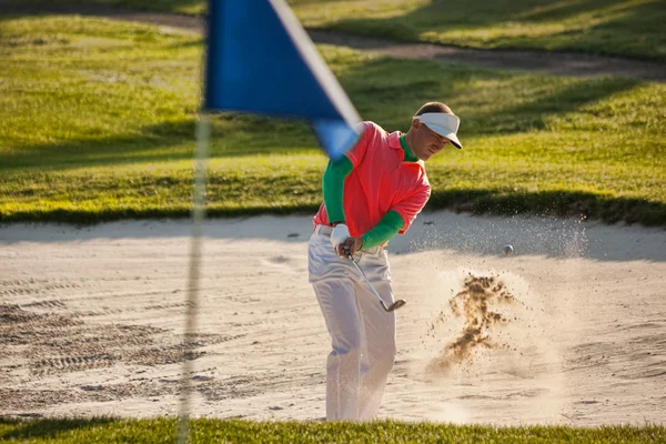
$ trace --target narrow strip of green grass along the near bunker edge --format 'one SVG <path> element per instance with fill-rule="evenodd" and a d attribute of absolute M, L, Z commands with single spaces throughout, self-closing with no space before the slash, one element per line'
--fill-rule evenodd
<path fill-rule="evenodd" d="M 195 420 L 191 443 L 663 443 L 657 425 L 492 427 L 381 421 L 371 424 Z M 22 443 L 173 443 L 176 421 L 0 420 L 0 441 Z"/>

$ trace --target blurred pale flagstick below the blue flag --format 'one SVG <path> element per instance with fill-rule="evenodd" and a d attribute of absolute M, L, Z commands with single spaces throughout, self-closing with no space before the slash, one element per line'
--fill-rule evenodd
<path fill-rule="evenodd" d="M 192 371 L 194 355 L 194 334 L 196 333 L 196 309 L 199 306 L 199 278 L 201 264 L 201 239 L 205 218 L 205 167 L 211 118 L 201 112 L 196 120 L 196 152 L 194 153 L 194 198 L 192 202 L 192 239 L 190 244 L 190 275 L 188 282 L 188 303 L 185 311 L 185 334 L 183 374 L 181 381 L 181 411 L 178 427 L 178 442 L 188 443 L 190 434 Z"/>

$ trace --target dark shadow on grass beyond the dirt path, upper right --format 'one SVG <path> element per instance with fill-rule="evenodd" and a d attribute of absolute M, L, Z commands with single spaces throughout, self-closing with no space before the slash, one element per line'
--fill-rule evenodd
<path fill-rule="evenodd" d="M 304 2 L 301 2 L 304 3 Z M 645 40 L 655 53 L 664 44 L 662 24 L 666 13 L 660 2 L 628 3 L 624 0 L 533 0 L 482 1 L 433 0 L 411 12 L 391 18 L 341 19 L 329 29 L 350 33 L 420 41 L 423 32 L 455 32 L 474 28 L 509 27 L 515 23 L 547 24 L 561 22 L 552 32 L 538 36 L 497 36 L 490 38 L 505 49 L 553 49 L 558 41 L 561 50 L 607 53 L 642 59 L 662 59 L 658 56 L 635 53 L 639 40 Z M 584 29 L 566 26 L 578 17 L 594 17 L 598 23 Z M 579 19 L 579 21 L 583 21 Z"/>

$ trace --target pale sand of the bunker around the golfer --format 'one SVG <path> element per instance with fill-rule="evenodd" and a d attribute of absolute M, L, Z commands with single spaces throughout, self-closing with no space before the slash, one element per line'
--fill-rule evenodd
<path fill-rule="evenodd" d="M 195 413 L 323 417 L 310 218 L 205 232 Z M 0 414 L 178 414 L 189 234 L 186 221 L 0 228 Z M 408 303 L 382 417 L 666 421 L 665 230 L 437 212 L 390 252 Z"/>

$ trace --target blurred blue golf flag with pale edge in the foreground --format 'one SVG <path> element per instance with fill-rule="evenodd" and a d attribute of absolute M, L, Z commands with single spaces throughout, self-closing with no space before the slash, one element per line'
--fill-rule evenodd
<path fill-rule="evenodd" d="M 210 0 L 206 111 L 307 120 L 326 153 L 359 139 L 361 119 L 284 0 Z"/>

